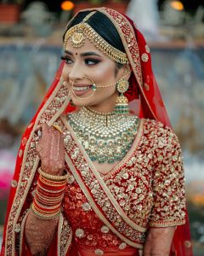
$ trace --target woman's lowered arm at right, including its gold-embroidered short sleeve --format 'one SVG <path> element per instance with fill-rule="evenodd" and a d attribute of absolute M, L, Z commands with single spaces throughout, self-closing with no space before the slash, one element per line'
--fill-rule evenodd
<path fill-rule="evenodd" d="M 185 223 L 184 167 L 176 135 L 166 126 L 157 130 L 155 171 L 152 176 L 154 204 L 144 256 L 168 256 L 175 226 Z"/>

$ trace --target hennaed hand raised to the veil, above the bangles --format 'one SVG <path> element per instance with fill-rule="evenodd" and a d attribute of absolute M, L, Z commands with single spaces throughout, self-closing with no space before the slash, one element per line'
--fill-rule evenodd
<path fill-rule="evenodd" d="M 42 171 L 51 175 L 62 175 L 65 168 L 65 146 L 62 134 L 48 124 L 40 125 L 38 130 L 42 134 L 37 143 Z"/>

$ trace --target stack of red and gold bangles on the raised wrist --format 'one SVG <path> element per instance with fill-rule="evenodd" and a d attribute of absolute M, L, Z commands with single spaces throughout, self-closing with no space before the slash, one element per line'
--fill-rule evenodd
<path fill-rule="evenodd" d="M 65 193 L 68 173 L 63 176 L 50 175 L 38 169 L 36 195 L 31 210 L 38 218 L 52 219 L 59 215 Z"/>

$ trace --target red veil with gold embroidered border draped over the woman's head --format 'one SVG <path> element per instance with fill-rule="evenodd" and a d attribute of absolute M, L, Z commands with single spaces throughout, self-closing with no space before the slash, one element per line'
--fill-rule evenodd
<path fill-rule="evenodd" d="M 98 10 L 106 15 L 114 26 L 116 26 L 117 32 L 122 39 L 122 44 L 126 49 L 129 63 L 132 67 L 132 74 L 129 79 L 130 86 L 126 93 L 131 111 L 139 115 L 140 118 L 156 119 L 164 125 L 171 126 L 160 90 L 152 72 L 150 49 L 141 32 L 133 24 L 133 20 L 130 20 L 127 16 L 113 9 L 100 8 L 82 11 L 88 10 Z M 48 125 L 51 125 L 61 113 L 68 113 L 74 109 L 69 103 L 67 91 L 63 88 L 64 85 L 61 76 L 63 67 L 64 62 L 61 62 L 54 82 L 51 84 L 37 113 L 31 119 L 31 123 L 28 125 L 20 144 L 20 151 L 16 161 L 14 179 L 8 201 L 8 213 L 5 222 L 1 255 L 15 255 L 16 225 L 20 218 L 20 212 L 26 208 L 26 195 L 28 195 L 37 170 L 37 157 L 36 162 L 33 161 L 33 166 L 31 165 L 30 169 L 26 167 L 26 158 L 29 154 L 34 131 L 39 123 L 46 121 Z M 26 181 L 22 185 L 22 181 L 24 181 L 23 173 L 26 173 Z M 13 203 L 14 201 L 15 203 Z M 16 202 L 18 202 L 18 206 L 16 206 Z M 178 226 L 175 231 L 171 255 L 192 255 L 188 214 L 186 214 L 186 224 Z"/>

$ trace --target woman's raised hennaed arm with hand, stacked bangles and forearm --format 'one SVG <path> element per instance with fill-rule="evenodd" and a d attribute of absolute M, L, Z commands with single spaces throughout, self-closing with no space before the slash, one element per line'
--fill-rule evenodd
<path fill-rule="evenodd" d="M 37 153 L 41 159 L 44 173 L 53 177 L 61 176 L 65 166 L 65 148 L 63 137 L 53 127 L 42 125 L 42 138 L 37 143 Z M 63 186 L 62 186 L 63 183 Z M 52 187 L 54 186 L 54 187 Z M 60 203 L 65 189 L 64 181 L 49 180 L 46 177 L 38 177 L 36 195 L 33 204 L 37 204 L 45 214 L 38 212 L 38 208 L 32 208 L 26 219 L 26 244 L 32 255 L 47 255 L 48 249 L 54 240 L 59 222 L 59 214 L 50 218 L 47 212 L 59 211 Z M 56 192 L 59 188 L 58 192 Z M 54 191 L 52 191 L 54 189 Z M 42 218 L 42 215 L 45 215 Z"/>

